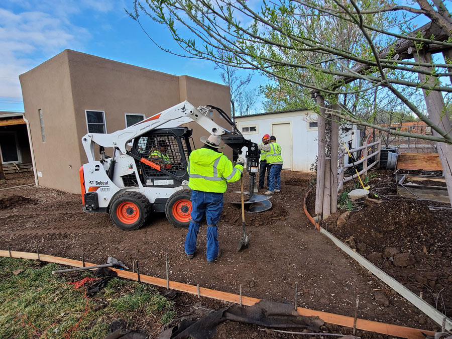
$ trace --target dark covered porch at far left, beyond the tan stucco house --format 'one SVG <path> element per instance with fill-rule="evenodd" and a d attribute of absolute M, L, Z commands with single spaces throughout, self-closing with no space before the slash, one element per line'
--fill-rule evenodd
<path fill-rule="evenodd" d="M 23 112 L 0 111 L 0 160 L 7 174 L 32 169 L 27 123 Z"/>

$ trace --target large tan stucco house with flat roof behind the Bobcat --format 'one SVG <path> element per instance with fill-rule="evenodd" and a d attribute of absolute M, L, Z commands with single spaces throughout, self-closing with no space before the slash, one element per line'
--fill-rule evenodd
<path fill-rule="evenodd" d="M 38 183 L 72 193 L 80 192 L 78 170 L 87 162 L 81 138 L 88 130 L 115 132 L 183 100 L 231 114 L 228 86 L 67 49 L 19 79 Z M 189 127 L 199 147 L 206 132 Z"/>

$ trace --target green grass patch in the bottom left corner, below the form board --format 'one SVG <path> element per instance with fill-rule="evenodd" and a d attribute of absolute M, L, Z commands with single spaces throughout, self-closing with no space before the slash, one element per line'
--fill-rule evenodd
<path fill-rule="evenodd" d="M 119 278 L 110 280 L 104 293 L 86 299 L 83 289 L 74 290 L 66 279 L 81 280 L 92 273 L 52 275 L 60 268 L 0 258 L 0 338 L 64 338 L 67 333 L 76 339 L 103 338 L 110 322 L 120 318 L 130 328 L 135 320 L 137 326 L 147 323 L 141 329 L 151 333 L 176 315 L 174 303 L 157 289 Z M 14 275 L 17 269 L 24 271 Z"/>

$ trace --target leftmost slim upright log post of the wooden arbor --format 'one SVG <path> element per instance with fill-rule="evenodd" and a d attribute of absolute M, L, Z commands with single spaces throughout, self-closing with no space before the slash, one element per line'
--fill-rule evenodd
<path fill-rule="evenodd" d="M 316 96 L 320 114 L 317 116 L 317 188 L 315 190 L 315 214 L 322 213 L 323 188 L 325 179 L 325 100 Z"/>

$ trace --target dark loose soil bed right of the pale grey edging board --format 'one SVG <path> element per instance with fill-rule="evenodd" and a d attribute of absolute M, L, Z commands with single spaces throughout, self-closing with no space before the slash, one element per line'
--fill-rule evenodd
<path fill-rule="evenodd" d="M 452 210 L 438 209 L 441 204 L 432 201 L 395 196 L 395 179 L 382 174 L 369 182 L 371 192 L 378 193 L 382 203 L 367 206 L 358 202 L 346 224 L 336 226 L 336 219 L 345 212 L 340 210 L 321 225 L 415 294 L 422 292 L 427 302 L 449 315 Z M 307 202 L 312 210 L 315 199 L 311 196 Z M 420 323 L 425 321 L 424 317 L 418 319 Z"/>

